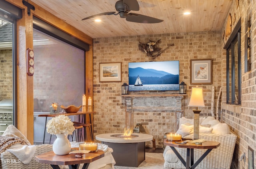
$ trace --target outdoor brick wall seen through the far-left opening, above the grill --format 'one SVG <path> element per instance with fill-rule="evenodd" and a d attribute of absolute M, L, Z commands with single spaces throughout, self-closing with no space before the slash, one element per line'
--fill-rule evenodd
<path fill-rule="evenodd" d="M 12 50 L 0 50 L 0 100 L 12 99 Z"/>

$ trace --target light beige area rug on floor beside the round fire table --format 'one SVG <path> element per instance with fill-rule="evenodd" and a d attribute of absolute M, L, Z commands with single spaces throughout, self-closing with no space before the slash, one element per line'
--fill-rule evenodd
<path fill-rule="evenodd" d="M 115 169 L 165 169 L 163 153 L 146 153 L 139 167 L 114 166 Z"/>

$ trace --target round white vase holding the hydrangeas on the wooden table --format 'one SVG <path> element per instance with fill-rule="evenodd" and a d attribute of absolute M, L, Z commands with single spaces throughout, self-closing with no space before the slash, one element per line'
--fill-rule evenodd
<path fill-rule="evenodd" d="M 71 150 L 71 145 L 67 136 L 64 134 L 56 134 L 56 140 L 52 145 L 52 150 L 56 155 L 66 155 Z"/>

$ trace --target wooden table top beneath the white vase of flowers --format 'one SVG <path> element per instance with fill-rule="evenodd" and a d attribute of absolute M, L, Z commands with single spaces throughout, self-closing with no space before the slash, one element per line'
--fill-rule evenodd
<path fill-rule="evenodd" d="M 78 148 L 72 148 L 78 150 Z M 104 157 L 104 151 L 98 150 L 96 153 L 86 153 L 82 157 L 75 157 L 75 154 L 56 155 L 53 151 L 35 156 L 38 163 L 52 165 L 73 165 L 81 163 L 91 163 L 97 159 Z"/>

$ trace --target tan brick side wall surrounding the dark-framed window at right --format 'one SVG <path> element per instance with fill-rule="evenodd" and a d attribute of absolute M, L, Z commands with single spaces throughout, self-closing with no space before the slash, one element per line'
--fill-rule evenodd
<path fill-rule="evenodd" d="M 247 32 L 246 20 L 248 14 L 251 12 L 251 70 L 244 72 L 244 40 L 245 33 Z M 230 8 L 233 26 L 235 27 L 239 18 L 241 18 L 241 73 L 242 73 L 242 103 L 241 105 L 228 105 L 226 104 L 226 74 L 222 75 L 222 117 L 225 123 L 228 123 L 230 129 L 238 136 L 235 154 L 231 168 L 234 169 L 247 169 L 248 168 L 248 146 L 254 149 L 254 168 L 255 165 L 255 151 L 256 151 L 256 3 L 252 1 L 239 1 L 237 6 L 236 1 Z M 226 24 L 224 24 L 225 26 Z M 223 26 L 223 32 L 225 27 Z M 224 46 L 225 42 L 223 42 Z M 222 57 L 222 69 L 226 71 L 226 53 Z M 239 161 L 242 154 L 246 154 L 246 162 Z"/>

